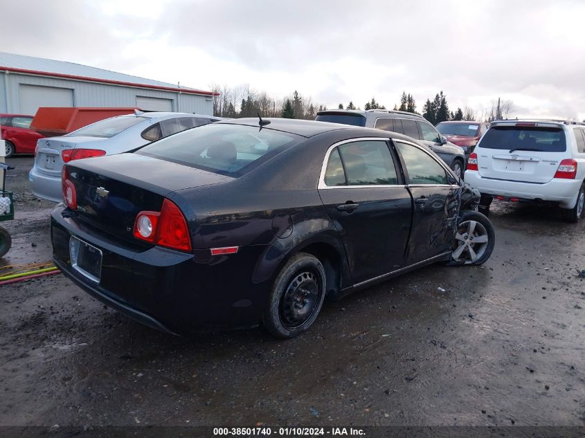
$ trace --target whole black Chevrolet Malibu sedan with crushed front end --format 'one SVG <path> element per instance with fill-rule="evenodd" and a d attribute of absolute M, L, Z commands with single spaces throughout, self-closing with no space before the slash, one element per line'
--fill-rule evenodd
<path fill-rule="evenodd" d="M 240 119 L 133 154 L 70 162 L 55 264 L 94 298 L 173 334 L 291 338 L 341 298 L 435 262 L 481 264 L 479 192 L 401 134 Z"/>

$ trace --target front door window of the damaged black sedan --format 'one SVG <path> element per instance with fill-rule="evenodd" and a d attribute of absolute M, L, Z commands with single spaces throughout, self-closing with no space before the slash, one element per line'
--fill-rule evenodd
<path fill-rule="evenodd" d="M 447 173 L 435 158 L 413 145 L 400 141 L 394 144 L 404 159 L 411 185 L 448 184 Z"/>

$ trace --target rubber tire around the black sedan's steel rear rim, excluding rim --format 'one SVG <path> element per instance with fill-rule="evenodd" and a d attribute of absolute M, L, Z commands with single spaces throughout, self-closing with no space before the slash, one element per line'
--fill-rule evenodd
<path fill-rule="evenodd" d="M 285 327 L 280 320 L 280 299 L 282 298 L 282 294 L 285 293 L 285 289 L 292 279 L 292 276 L 302 268 L 310 268 L 321 277 L 319 279 L 321 282 L 321 298 L 316 304 L 316 311 L 314 311 L 314 314 L 309 320 L 307 320 L 302 326 L 298 327 L 298 329 L 289 329 Z M 303 331 L 307 331 L 307 329 L 312 326 L 313 322 L 315 322 L 321 311 L 321 307 L 323 307 L 325 291 L 327 290 L 325 286 L 325 269 L 317 257 L 307 253 L 297 253 L 292 256 L 285 266 L 282 267 L 276 280 L 274 280 L 267 309 L 262 316 L 264 327 L 266 327 L 271 335 L 276 336 L 277 338 L 294 338 L 303 333 Z"/>

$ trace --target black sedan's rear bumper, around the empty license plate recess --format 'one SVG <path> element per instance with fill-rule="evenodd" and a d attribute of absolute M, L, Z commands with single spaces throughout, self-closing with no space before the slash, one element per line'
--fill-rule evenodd
<path fill-rule="evenodd" d="M 75 218 L 62 217 L 63 210 L 60 204 L 51 214 L 53 260 L 66 277 L 109 307 L 171 334 L 260 322 L 271 281 L 255 282 L 253 272 L 262 255 L 274 251 L 271 246 L 245 246 L 236 254 L 215 257 L 209 250 L 131 248 Z M 102 251 L 99 282 L 71 266 L 72 235 Z"/>

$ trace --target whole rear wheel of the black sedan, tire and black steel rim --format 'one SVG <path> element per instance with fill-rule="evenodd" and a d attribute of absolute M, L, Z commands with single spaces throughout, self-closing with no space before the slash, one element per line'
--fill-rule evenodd
<path fill-rule="evenodd" d="M 264 327 L 276 338 L 294 338 L 317 319 L 325 299 L 325 269 L 307 253 L 291 257 L 282 268 L 262 316 Z"/>

